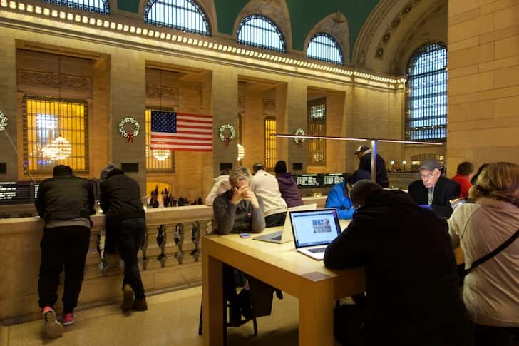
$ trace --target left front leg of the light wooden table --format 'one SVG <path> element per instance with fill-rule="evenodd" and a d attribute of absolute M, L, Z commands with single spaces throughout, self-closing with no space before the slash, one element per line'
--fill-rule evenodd
<path fill-rule="evenodd" d="M 222 262 L 202 251 L 202 315 L 204 346 L 223 345 Z"/>

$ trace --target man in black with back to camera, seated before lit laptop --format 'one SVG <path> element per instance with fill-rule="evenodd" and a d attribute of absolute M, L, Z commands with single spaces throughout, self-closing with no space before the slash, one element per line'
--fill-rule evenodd
<path fill-rule="evenodd" d="M 369 180 L 356 183 L 350 195 L 356 213 L 327 248 L 324 265 L 364 267 L 366 345 L 472 345 L 446 220 Z M 336 311 L 341 342 L 352 337 L 344 335 L 344 310 Z"/>

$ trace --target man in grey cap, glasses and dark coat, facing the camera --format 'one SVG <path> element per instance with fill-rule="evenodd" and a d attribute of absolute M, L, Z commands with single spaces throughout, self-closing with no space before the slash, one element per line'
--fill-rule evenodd
<path fill-rule="evenodd" d="M 452 214 L 449 200 L 460 196 L 460 185 L 441 175 L 440 163 L 436 160 L 423 160 L 420 166 L 421 180 L 409 184 L 409 195 L 418 205 L 431 205 L 436 215 L 448 218 Z"/>

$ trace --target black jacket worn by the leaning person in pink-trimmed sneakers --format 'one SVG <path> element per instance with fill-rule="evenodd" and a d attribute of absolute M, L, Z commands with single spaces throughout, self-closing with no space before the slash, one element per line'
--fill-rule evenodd
<path fill-rule="evenodd" d="M 43 180 L 34 202 L 45 222 L 87 218 L 96 213 L 92 184 L 74 175 L 58 175 Z"/>

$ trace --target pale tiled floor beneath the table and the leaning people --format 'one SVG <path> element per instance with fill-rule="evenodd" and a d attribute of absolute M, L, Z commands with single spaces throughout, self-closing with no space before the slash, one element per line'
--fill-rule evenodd
<path fill-rule="evenodd" d="M 65 327 L 63 336 L 48 339 L 41 321 L 0 327 L 0 346 L 198 346 L 198 317 L 202 288 L 190 288 L 148 297 L 148 311 L 126 316 L 118 305 L 96 307 L 76 313 L 76 324 Z M 252 322 L 229 328 L 228 345 L 297 345 L 297 299 L 287 294 L 274 297 L 272 316 L 257 320 L 258 337 Z"/>

